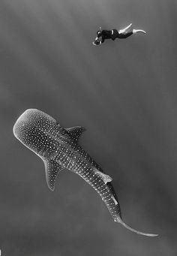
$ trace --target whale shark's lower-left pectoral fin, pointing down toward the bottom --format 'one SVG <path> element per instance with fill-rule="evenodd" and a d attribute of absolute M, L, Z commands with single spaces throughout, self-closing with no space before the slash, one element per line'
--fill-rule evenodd
<path fill-rule="evenodd" d="M 54 191 L 55 179 L 58 175 L 58 172 L 62 170 L 63 167 L 51 159 L 43 158 L 43 162 L 45 164 L 45 170 L 46 170 L 46 183 L 49 189 Z"/>

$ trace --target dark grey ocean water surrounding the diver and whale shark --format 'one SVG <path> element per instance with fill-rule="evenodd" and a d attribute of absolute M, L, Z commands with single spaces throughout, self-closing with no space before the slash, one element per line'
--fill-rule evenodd
<path fill-rule="evenodd" d="M 177 254 L 177 2 L 1 0 L 0 249 L 17 256 Z M 99 26 L 130 22 L 147 35 L 94 47 Z M 46 186 L 43 162 L 13 137 L 37 108 L 64 127 L 113 177 L 124 221 L 114 223 L 79 176 Z"/>

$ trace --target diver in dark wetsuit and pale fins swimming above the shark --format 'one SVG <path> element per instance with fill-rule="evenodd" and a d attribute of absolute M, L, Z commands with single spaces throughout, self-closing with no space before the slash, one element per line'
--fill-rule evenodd
<path fill-rule="evenodd" d="M 97 37 L 95 38 L 93 44 L 95 46 L 103 44 L 105 39 L 112 39 L 114 41 L 115 38 L 128 38 L 130 35 L 136 34 L 137 32 L 146 34 L 146 32 L 142 29 L 133 29 L 132 23 L 130 23 L 130 25 L 128 25 L 126 28 L 120 30 L 101 30 L 100 27 L 100 30 L 98 30 Z"/>

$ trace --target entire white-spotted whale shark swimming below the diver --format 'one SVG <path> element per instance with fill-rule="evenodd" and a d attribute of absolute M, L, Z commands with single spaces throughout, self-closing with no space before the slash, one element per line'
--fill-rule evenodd
<path fill-rule="evenodd" d="M 135 233 L 157 236 L 134 230 L 122 221 L 118 198 L 111 184 L 112 178 L 101 170 L 78 143 L 80 135 L 85 130 L 80 126 L 62 128 L 51 116 L 35 109 L 26 110 L 13 126 L 14 136 L 43 159 L 46 182 L 50 190 L 54 190 L 55 179 L 60 170 L 71 170 L 98 192 L 114 221 Z"/>

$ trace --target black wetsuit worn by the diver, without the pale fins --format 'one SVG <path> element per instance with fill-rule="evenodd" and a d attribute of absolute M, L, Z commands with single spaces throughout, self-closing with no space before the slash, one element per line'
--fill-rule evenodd
<path fill-rule="evenodd" d="M 101 43 L 104 43 L 105 39 L 112 39 L 114 41 L 115 38 L 127 38 L 127 37 L 130 37 L 130 35 L 132 34 L 133 32 L 127 32 L 126 34 L 121 34 L 121 33 L 118 33 L 117 29 L 102 30 L 101 32 L 99 32 L 98 38 L 101 38 Z"/>

